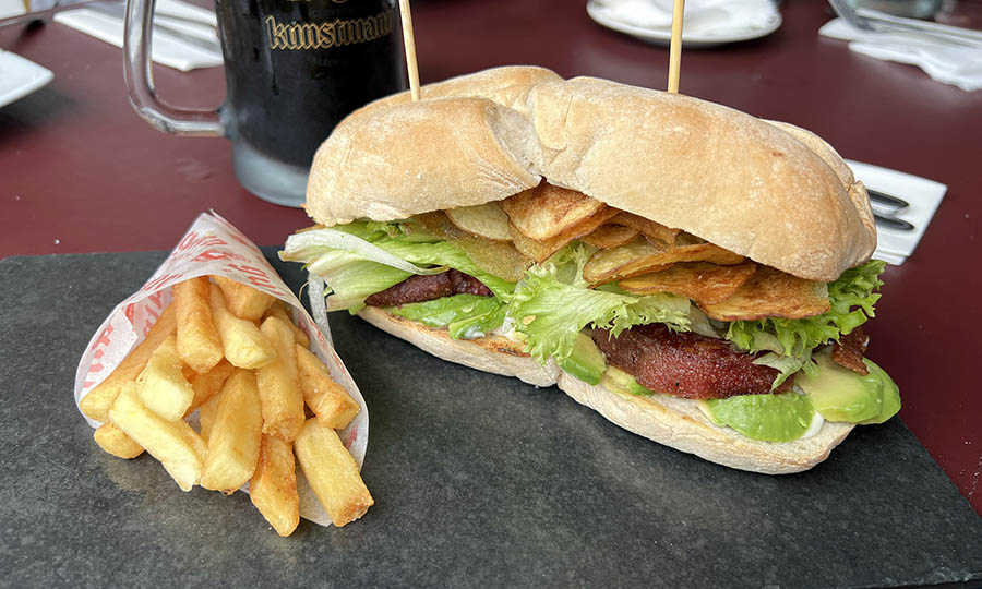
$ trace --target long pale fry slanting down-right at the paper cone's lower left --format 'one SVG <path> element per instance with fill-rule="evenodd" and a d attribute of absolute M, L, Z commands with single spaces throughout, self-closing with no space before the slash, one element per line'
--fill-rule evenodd
<path fill-rule="evenodd" d="M 134 383 L 120 390 L 109 421 L 159 460 L 183 491 L 201 479 L 204 441 L 187 422 L 167 421 L 141 405 Z"/>

